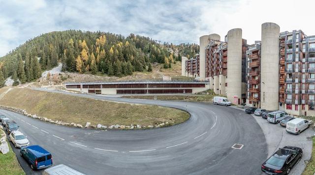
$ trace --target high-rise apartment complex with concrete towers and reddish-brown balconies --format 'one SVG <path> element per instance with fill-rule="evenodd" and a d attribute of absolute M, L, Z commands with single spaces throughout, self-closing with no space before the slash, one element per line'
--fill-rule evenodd
<path fill-rule="evenodd" d="M 252 45 L 242 39 L 240 28 L 228 31 L 224 41 L 218 34 L 201 36 L 197 66 L 195 77 L 209 80 L 216 94 L 235 104 L 315 114 L 315 36 L 301 30 L 280 33 L 279 25 L 264 23 L 261 41 Z"/>

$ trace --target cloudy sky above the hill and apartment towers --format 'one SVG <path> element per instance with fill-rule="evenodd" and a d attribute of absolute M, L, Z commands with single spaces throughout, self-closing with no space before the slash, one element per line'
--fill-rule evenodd
<path fill-rule="evenodd" d="M 0 0 L 0 56 L 42 33 L 66 29 L 136 33 L 169 43 L 242 28 L 260 40 L 264 22 L 315 35 L 315 0 Z"/>

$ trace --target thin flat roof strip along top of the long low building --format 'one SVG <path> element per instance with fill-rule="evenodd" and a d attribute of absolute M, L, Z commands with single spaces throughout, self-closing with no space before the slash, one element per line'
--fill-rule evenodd
<path fill-rule="evenodd" d="M 112 82 L 78 82 L 65 85 L 96 85 L 96 84 L 207 84 L 209 81 L 112 81 Z"/>

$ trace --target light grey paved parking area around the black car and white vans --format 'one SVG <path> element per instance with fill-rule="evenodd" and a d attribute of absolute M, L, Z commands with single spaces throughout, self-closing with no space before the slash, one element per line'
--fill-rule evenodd
<path fill-rule="evenodd" d="M 244 113 L 244 115 L 251 114 Z M 269 123 L 267 119 L 263 119 L 260 116 L 255 116 L 254 114 L 252 114 L 252 117 L 255 118 L 258 125 L 260 125 L 265 134 L 266 142 L 268 145 L 267 148 L 268 156 L 271 156 L 276 150 L 284 146 L 296 146 L 303 149 L 302 159 L 298 162 L 297 165 L 295 165 L 295 167 L 290 172 L 290 175 L 301 175 L 306 166 L 305 161 L 311 159 L 312 153 L 311 136 L 313 136 L 315 133 L 314 127 L 310 127 L 304 130 L 303 132 L 301 132 L 300 135 L 294 135 L 286 132 L 285 127 L 279 124 Z M 261 163 L 263 163 L 263 161 L 265 160 L 261 160 Z"/>

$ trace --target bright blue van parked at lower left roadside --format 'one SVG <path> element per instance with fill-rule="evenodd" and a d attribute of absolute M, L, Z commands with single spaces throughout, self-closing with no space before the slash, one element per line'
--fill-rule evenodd
<path fill-rule="evenodd" d="M 20 155 L 31 165 L 33 170 L 43 169 L 53 165 L 51 153 L 38 145 L 21 148 Z"/>

